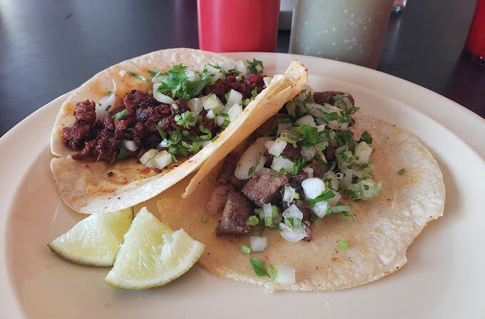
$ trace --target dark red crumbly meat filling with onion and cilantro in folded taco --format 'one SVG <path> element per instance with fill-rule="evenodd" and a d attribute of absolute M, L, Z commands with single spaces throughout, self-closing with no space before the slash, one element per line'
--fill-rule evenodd
<path fill-rule="evenodd" d="M 271 78 L 262 74 L 262 62 L 222 61 L 201 71 L 183 64 L 147 76 L 128 72 L 153 83 L 152 91 L 133 90 L 116 103 L 116 87 L 98 103 L 76 103 L 73 126 L 62 128 L 65 146 L 79 151 L 75 160 L 107 161 L 136 158 L 155 171 L 190 157 L 218 138 Z"/>

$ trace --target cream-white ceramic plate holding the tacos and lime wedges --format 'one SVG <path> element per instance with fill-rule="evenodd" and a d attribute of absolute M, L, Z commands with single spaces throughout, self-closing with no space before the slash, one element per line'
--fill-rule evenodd
<path fill-rule="evenodd" d="M 108 268 L 65 262 L 46 246 L 84 217 L 59 206 L 49 169 L 48 141 L 65 94 L 0 138 L 0 318 L 484 318 L 485 121 L 432 91 L 359 66 L 228 55 L 262 59 L 267 74 L 300 59 L 310 86 L 351 92 L 364 112 L 406 128 L 432 152 L 446 185 L 445 212 L 409 248 L 404 268 L 326 293 L 264 295 L 197 266 L 161 288 L 112 288 L 103 282 Z"/>

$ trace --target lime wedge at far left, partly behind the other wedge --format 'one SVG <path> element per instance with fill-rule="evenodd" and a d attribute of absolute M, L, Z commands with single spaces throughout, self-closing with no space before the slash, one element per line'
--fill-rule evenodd
<path fill-rule="evenodd" d="M 48 248 L 73 263 L 111 266 L 133 220 L 133 208 L 95 213 L 48 243 Z"/>

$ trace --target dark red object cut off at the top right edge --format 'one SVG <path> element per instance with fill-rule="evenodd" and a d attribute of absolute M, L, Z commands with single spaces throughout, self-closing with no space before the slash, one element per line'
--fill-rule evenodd
<path fill-rule="evenodd" d="M 465 48 L 472 59 L 485 65 L 485 0 L 476 2 Z"/>

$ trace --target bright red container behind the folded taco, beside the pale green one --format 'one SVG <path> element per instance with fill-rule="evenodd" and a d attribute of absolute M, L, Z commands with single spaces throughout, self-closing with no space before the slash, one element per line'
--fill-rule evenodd
<path fill-rule="evenodd" d="M 197 0 L 199 49 L 274 52 L 279 14 L 280 0 Z"/>

